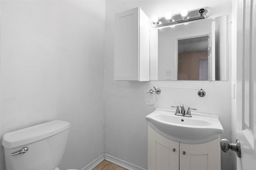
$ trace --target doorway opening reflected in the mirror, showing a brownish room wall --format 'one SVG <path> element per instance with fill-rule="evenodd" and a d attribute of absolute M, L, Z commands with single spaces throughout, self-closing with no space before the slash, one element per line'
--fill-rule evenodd
<path fill-rule="evenodd" d="M 178 80 L 208 80 L 208 35 L 178 39 Z"/>

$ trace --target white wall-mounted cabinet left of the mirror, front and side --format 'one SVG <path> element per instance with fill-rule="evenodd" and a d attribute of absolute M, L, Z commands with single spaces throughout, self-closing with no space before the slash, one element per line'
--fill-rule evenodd
<path fill-rule="evenodd" d="M 115 80 L 149 81 L 149 27 L 140 7 L 115 15 Z"/>

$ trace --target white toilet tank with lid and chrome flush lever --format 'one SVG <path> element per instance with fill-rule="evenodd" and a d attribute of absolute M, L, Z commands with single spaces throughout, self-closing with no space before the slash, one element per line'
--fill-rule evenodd
<path fill-rule="evenodd" d="M 6 170 L 60 170 L 69 128 L 54 120 L 4 134 Z"/>

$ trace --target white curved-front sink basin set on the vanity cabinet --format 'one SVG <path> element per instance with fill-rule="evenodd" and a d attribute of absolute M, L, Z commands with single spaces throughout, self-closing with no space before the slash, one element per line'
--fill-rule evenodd
<path fill-rule="evenodd" d="M 174 110 L 156 109 L 146 116 L 146 120 L 164 137 L 182 143 L 204 143 L 223 133 L 216 115 L 191 113 L 192 117 L 184 117 L 174 113 Z"/>

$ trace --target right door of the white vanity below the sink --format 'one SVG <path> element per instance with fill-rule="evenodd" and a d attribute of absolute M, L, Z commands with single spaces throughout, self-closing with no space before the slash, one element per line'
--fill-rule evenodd
<path fill-rule="evenodd" d="M 220 139 L 208 143 L 180 143 L 180 170 L 220 170 Z"/>

